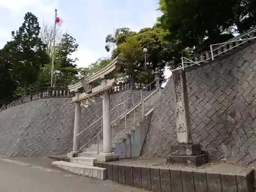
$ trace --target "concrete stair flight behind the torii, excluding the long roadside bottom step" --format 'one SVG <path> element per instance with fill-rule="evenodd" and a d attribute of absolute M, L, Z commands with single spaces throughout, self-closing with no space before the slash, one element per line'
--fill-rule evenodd
<path fill-rule="evenodd" d="M 142 104 L 139 104 L 134 111 L 131 111 L 125 118 L 119 119 L 118 122 L 114 122 L 112 125 L 112 148 L 115 154 L 119 155 L 120 159 L 139 157 L 141 148 L 148 131 L 148 125 L 150 123 L 152 111 L 159 99 L 160 94 L 157 91 L 153 92 L 151 97 L 147 98 L 144 102 L 144 117 L 142 118 Z M 139 144 L 140 143 L 140 144 Z M 100 135 L 99 146 L 97 142 L 88 144 L 86 148 L 82 149 L 82 153 L 78 154 L 78 157 L 96 157 L 98 151 L 103 148 L 103 138 Z"/>

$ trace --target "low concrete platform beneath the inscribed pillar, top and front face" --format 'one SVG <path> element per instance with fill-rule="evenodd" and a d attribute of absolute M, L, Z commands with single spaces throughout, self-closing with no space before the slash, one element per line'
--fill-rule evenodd
<path fill-rule="evenodd" d="M 109 180 L 155 192 L 254 191 L 254 169 L 226 163 L 186 167 L 165 159 L 132 158 L 95 166 L 108 168 Z"/>

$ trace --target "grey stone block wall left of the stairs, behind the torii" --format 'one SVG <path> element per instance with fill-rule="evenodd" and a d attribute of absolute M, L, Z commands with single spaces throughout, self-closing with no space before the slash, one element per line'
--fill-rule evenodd
<path fill-rule="evenodd" d="M 127 90 L 111 94 L 111 109 L 134 93 L 136 92 Z M 138 95 L 135 95 L 136 99 Z M 130 102 L 129 100 L 125 105 L 130 105 Z M 89 108 L 81 108 L 81 130 L 84 130 L 102 116 L 102 99 L 98 98 Z M 123 108 L 120 110 L 122 112 Z M 0 112 L 0 156 L 67 154 L 72 150 L 74 111 L 71 98 L 47 98 Z M 117 111 L 113 110 L 111 116 L 115 119 Z M 101 121 L 81 134 L 80 146 L 100 129 Z"/>

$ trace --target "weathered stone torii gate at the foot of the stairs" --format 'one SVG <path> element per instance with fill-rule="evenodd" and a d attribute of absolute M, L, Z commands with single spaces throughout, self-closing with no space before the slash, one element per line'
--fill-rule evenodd
<path fill-rule="evenodd" d="M 116 79 L 111 79 L 117 73 L 124 59 L 120 56 L 116 57 L 109 65 L 91 75 L 88 78 L 82 78 L 80 82 L 69 86 L 70 92 L 75 92 L 72 101 L 75 102 L 75 119 L 74 119 L 74 136 L 73 149 L 68 157 L 77 157 L 79 142 L 78 134 L 80 132 L 80 115 L 82 101 L 94 100 L 102 95 L 102 114 L 103 114 L 103 152 L 97 156 L 97 161 L 113 161 L 118 160 L 119 155 L 112 153 L 112 134 L 111 134 L 111 116 L 110 116 L 110 94 Z M 99 86 L 94 86 L 101 81 Z M 81 93 L 82 88 L 85 92 Z"/>

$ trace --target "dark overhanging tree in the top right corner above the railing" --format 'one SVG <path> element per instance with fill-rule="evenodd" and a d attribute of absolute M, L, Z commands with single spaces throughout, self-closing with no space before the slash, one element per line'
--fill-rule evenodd
<path fill-rule="evenodd" d="M 256 25 L 255 0 L 159 0 L 162 28 L 170 41 L 179 39 L 184 47 L 198 46 L 205 38 L 218 38 L 224 31 L 242 33 Z"/>

